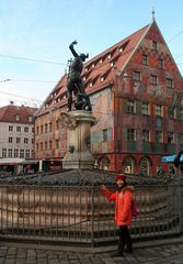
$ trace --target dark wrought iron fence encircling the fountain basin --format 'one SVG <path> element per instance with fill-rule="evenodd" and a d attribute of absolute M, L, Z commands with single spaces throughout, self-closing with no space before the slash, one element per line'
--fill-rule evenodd
<path fill-rule="evenodd" d="M 182 177 L 136 177 L 138 217 L 136 239 L 172 235 L 183 231 Z M 113 184 L 108 188 L 114 189 Z M 89 185 L 0 184 L 0 237 L 36 241 L 99 244 L 117 239 L 114 204 Z"/>

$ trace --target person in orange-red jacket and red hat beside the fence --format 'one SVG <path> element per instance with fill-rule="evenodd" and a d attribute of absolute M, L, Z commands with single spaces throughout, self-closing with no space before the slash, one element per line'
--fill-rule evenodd
<path fill-rule="evenodd" d="M 134 187 L 128 186 L 126 176 L 124 174 L 115 177 L 117 190 L 113 194 L 101 185 L 101 189 L 108 200 L 115 200 L 115 223 L 119 227 L 119 240 L 117 252 L 113 256 L 123 256 L 125 244 L 127 244 L 127 252 L 133 253 L 133 243 L 128 226 L 131 224 L 131 202 L 134 199 Z"/>

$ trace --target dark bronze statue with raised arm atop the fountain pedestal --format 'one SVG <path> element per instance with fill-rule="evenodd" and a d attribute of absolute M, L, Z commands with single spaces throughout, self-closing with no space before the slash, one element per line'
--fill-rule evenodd
<path fill-rule="evenodd" d="M 89 57 L 89 54 L 80 54 L 75 51 L 73 45 L 78 42 L 73 41 L 69 48 L 75 56 L 75 59 L 70 66 L 70 72 L 68 75 L 67 92 L 68 92 L 68 111 L 71 111 L 72 106 L 72 92 L 76 96 L 75 108 L 77 110 L 88 110 L 91 111 L 92 107 L 90 103 L 90 98 L 85 94 L 83 80 L 81 78 L 81 72 L 83 69 L 83 62 Z"/>

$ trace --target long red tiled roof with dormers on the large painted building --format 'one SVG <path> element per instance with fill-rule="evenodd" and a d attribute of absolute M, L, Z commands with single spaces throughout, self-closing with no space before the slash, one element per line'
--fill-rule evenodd
<path fill-rule="evenodd" d="M 101 89 L 104 86 L 113 82 L 113 70 L 123 69 L 125 64 L 128 62 L 128 58 L 130 58 L 134 50 L 140 42 L 141 37 L 147 32 L 148 26 L 149 24 L 122 40 L 112 47 L 107 48 L 105 52 L 91 58 L 84 64 L 82 77 L 85 85 L 85 91 L 88 94 L 91 94 L 94 90 Z M 53 107 L 66 103 L 66 98 L 64 97 L 64 95 L 67 92 L 66 85 L 67 75 L 61 77 L 60 81 L 46 98 L 44 105 L 36 113 L 37 116 L 44 114 L 48 111 L 48 109 Z"/>

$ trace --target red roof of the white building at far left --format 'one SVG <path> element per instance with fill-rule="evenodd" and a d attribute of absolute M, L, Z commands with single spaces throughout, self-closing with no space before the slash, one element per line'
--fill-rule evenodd
<path fill-rule="evenodd" d="M 0 108 L 0 122 L 12 122 L 12 123 L 34 123 L 34 114 L 37 108 L 30 108 L 24 106 L 5 106 Z M 32 121 L 28 119 L 32 117 Z"/>

